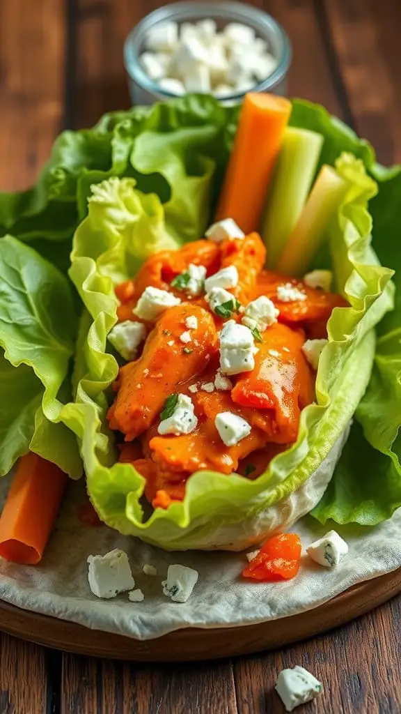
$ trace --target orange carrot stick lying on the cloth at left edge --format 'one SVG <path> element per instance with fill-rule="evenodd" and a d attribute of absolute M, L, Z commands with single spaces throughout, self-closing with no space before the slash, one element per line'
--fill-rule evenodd
<path fill-rule="evenodd" d="M 24 565 L 41 560 L 68 481 L 54 463 L 35 453 L 19 461 L 0 516 L 0 555 Z"/>

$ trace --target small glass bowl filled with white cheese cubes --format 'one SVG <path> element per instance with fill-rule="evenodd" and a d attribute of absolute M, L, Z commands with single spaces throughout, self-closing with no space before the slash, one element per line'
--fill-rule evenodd
<path fill-rule="evenodd" d="M 248 91 L 285 94 L 291 49 L 267 13 L 238 2 L 179 2 L 131 31 L 124 59 L 133 104 L 186 93 L 223 103 Z"/>

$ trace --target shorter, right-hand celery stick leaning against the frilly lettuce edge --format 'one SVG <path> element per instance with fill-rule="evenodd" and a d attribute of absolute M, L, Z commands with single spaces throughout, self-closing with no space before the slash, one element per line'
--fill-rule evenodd
<path fill-rule="evenodd" d="M 322 166 L 298 223 L 278 259 L 276 269 L 280 273 L 297 276 L 307 271 L 311 258 L 328 235 L 330 221 L 349 186 L 332 166 Z"/>

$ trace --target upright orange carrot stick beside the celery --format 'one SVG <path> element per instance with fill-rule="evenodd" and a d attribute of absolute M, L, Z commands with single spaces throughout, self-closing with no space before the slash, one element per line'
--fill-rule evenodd
<path fill-rule="evenodd" d="M 216 219 L 234 218 L 245 233 L 257 231 L 268 184 L 290 118 L 288 99 L 245 96 Z"/>

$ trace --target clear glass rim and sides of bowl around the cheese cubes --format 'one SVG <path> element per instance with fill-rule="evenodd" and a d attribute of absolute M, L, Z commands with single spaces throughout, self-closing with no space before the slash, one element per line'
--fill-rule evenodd
<path fill-rule="evenodd" d="M 276 69 L 264 81 L 260 81 L 251 91 L 285 94 L 288 68 L 291 62 L 291 46 L 283 27 L 273 17 L 250 5 L 240 2 L 177 2 L 164 5 L 146 15 L 128 35 L 124 45 L 124 64 L 128 74 L 128 84 L 133 105 L 153 104 L 154 101 L 166 101 L 177 96 L 161 89 L 156 82 L 149 79 L 143 71 L 138 58 L 141 55 L 147 32 L 158 24 L 173 21 L 198 22 L 205 18 L 215 20 L 218 30 L 222 30 L 230 22 L 240 22 L 255 30 L 258 37 L 268 43 L 270 54 L 275 56 L 278 64 Z M 218 97 L 223 104 L 233 104 L 241 101 L 244 92 L 234 92 Z"/>

